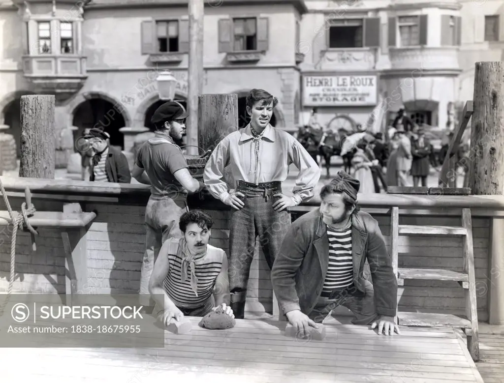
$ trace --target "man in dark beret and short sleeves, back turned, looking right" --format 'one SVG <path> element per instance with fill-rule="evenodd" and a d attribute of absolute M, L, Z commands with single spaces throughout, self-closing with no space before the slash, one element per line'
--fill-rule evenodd
<path fill-rule="evenodd" d="M 185 132 L 186 117 L 185 108 L 175 101 L 156 109 L 151 118 L 155 135 L 140 147 L 133 169 L 138 182 L 151 186 L 145 209 L 147 237 L 140 274 L 140 299 L 145 306 L 154 305 L 149 297 L 149 279 L 161 246 L 169 238 L 182 238 L 178 222 L 188 211 L 187 194 L 205 187 L 191 176 L 182 150 L 175 144 Z"/>

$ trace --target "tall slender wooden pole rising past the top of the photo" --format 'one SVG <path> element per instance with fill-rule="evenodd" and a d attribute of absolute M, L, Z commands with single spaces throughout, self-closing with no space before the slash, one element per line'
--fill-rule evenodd
<path fill-rule="evenodd" d="M 197 155 L 198 96 L 203 93 L 203 16 L 204 0 L 189 0 L 189 60 L 187 95 L 187 154 Z"/>

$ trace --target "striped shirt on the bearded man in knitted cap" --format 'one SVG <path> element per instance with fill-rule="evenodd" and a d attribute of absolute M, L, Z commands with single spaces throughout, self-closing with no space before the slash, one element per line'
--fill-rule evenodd
<path fill-rule="evenodd" d="M 323 297 L 330 297 L 334 291 L 343 290 L 353 284 L 352 226 L 343 231 L 327 228 L 329 239 L 329 265 L 322 288 Z"/>

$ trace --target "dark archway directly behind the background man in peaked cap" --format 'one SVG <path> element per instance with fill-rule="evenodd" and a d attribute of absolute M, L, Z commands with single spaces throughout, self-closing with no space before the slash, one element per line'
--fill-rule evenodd
<path fill-rule="evenodd" d="M 75 132 L 81 137 L 84 129 L 102 127 L 110 134 L 110 145 L 124 149 L 124 136 L 119 131 L 126 126 L 124 116 L 110 102 L 101 98 L 88 99 L 74 110 L 72 124 L 79 129 Z"/>

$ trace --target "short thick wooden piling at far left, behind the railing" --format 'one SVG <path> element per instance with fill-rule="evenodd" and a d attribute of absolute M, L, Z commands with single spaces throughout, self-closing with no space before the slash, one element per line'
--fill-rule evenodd
<path fill-rule="evenodd" d="M 54 179 L 55 97 L 21 96 L 19 177 Z"/>

